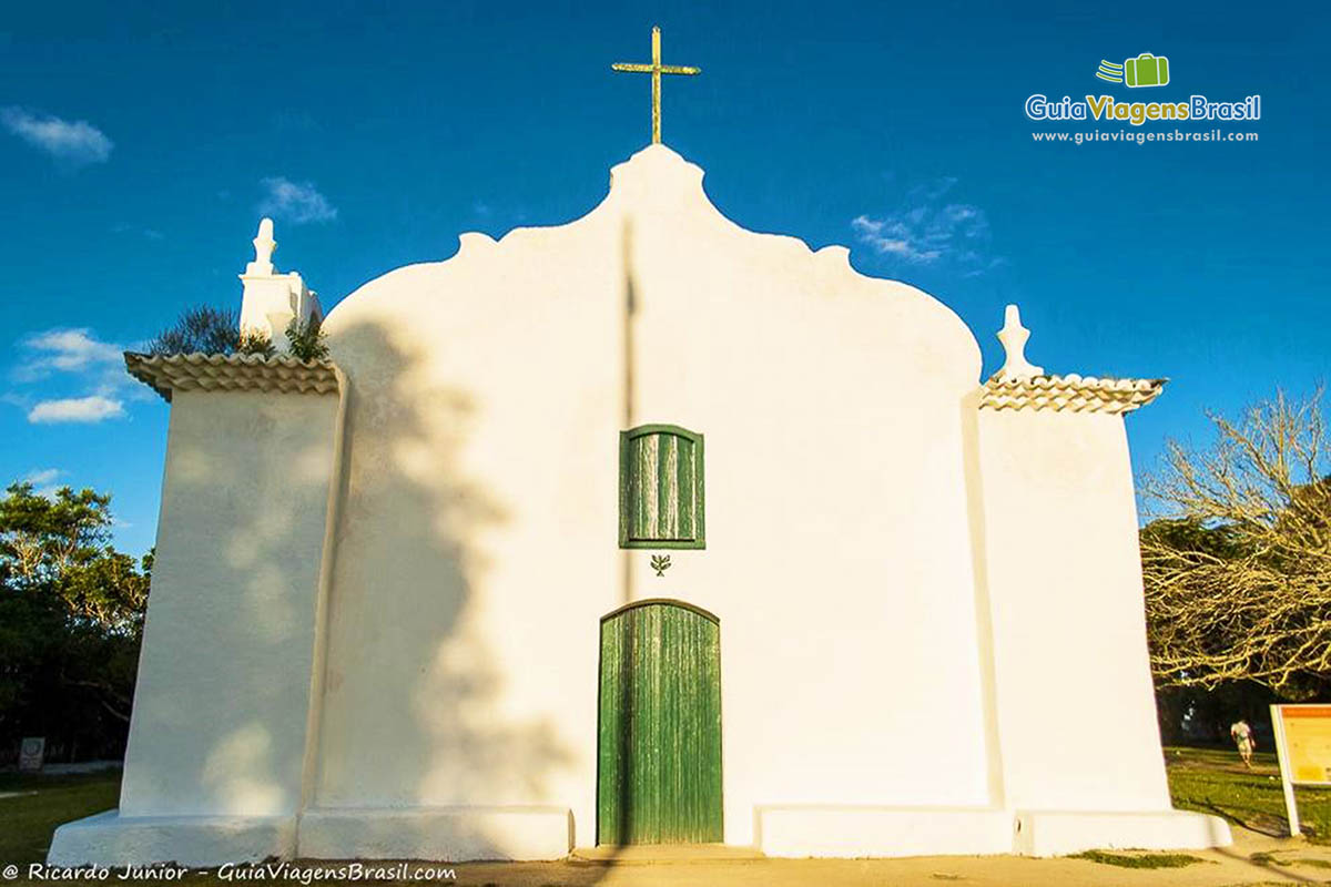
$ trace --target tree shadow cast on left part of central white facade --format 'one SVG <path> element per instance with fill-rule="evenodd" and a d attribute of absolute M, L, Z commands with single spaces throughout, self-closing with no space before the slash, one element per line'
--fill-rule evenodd
<path fill-rule="evenodd" d="M 568 807 L 556 725 L 506 706 L 503 669 L 542 664 L 500 661 L 484 612 L 486 536 L 508 515 L 463 464 L 482 407 L 431 378 L 422 350 L 447 343 L 407 335 L 362 323 L 331 340 L 351 394 L 313 806 Z M 510 855 L 470 826 L 411 843 Z"/>

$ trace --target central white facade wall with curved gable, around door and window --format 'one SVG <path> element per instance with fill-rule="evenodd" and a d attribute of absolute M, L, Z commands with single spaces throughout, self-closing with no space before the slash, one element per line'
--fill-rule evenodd
<path fill-rule="evenodd" d="M 707 439 L 701 552 L 616 540 L 634 424 Z M 463 237 L 325 328 L 351 379 L 321 807 L 562 805 L 595 830 L 598 620 L 721 618 L 725 836 L 756 805 L 989 801 L 958 318 L 744 231 L 663 146 L 555 229 Z"/>

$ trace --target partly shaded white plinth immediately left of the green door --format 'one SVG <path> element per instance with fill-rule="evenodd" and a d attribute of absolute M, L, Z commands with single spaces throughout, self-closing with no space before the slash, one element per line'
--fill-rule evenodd
<path fill-rule="evenodd" d="M 563 859 L 574 848 L 568 807 L 310 810 L 297 854 L 306 859 Z"/>

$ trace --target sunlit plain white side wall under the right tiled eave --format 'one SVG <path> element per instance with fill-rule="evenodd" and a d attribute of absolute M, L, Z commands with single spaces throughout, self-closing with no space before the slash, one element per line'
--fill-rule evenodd
<path fill-rule="evenodd" d="M 980 412 L 1008 805 L 1169 810 L 1121 416 Z"/>

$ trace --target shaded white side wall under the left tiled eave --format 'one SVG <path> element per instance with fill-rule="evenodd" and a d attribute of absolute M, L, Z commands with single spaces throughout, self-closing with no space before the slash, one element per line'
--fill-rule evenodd
<path fill-rule="evenodd" d="M 174 394 L 122 818 L 297 810 L 335 408 Z"/>

